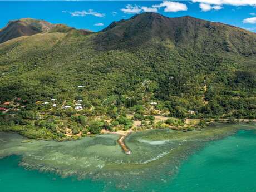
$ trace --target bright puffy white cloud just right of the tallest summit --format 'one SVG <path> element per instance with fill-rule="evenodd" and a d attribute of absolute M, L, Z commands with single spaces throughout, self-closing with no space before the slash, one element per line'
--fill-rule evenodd
<path fill-rule="evenodd" d="M 155 4 L 152 6 L 154 8 L 164 8 L 164 12 L 178 12 L 178 11 L 187 11 L 188 7 L 186 4 L 179 3 L 179 2 L 173 2 L 173 1 L 163 1 L 161 4 Z"/>

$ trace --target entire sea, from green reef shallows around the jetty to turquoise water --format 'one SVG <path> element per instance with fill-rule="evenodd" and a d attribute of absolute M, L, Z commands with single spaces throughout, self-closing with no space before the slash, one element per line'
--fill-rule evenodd
<path fill-rule="evenodd" d="M 115 134 L 26 143 L 17 134 L 0 133 L 0 156 L 21 155 L 0 160 L 1 191 L 255 191 L 255 131 L 229 135 L 253 128 L 137 132 L 126 139 L 130 156 L 116 144 Z"/>

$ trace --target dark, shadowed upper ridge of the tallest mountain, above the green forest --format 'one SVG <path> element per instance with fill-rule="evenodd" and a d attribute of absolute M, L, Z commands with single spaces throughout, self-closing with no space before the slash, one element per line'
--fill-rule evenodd
<path fill-rule="evenodd" d="M 214 47 L 215 50 L 244 55 L 256 53 L 255 33 L 190 16 L 168 18 L 147 12 L 128 20 L 112 22 L 102 32 L 97 43 L 110 48 L 139 46 L 141 41 L 155 40 L 168 41 L 171 46 L 200 52 L 211 51 Z"/>

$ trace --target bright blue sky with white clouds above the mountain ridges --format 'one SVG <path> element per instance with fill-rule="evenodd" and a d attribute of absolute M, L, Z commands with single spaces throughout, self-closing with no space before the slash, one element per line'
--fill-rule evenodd
<path fill-rule="evenodd" d="M 9 20 L 31 17 L 100 31 L 112 21 L 146 11 L 167 17 L 189 15 L 256 32 L 256 0 L 0 1 L 0 28 Z"/>

